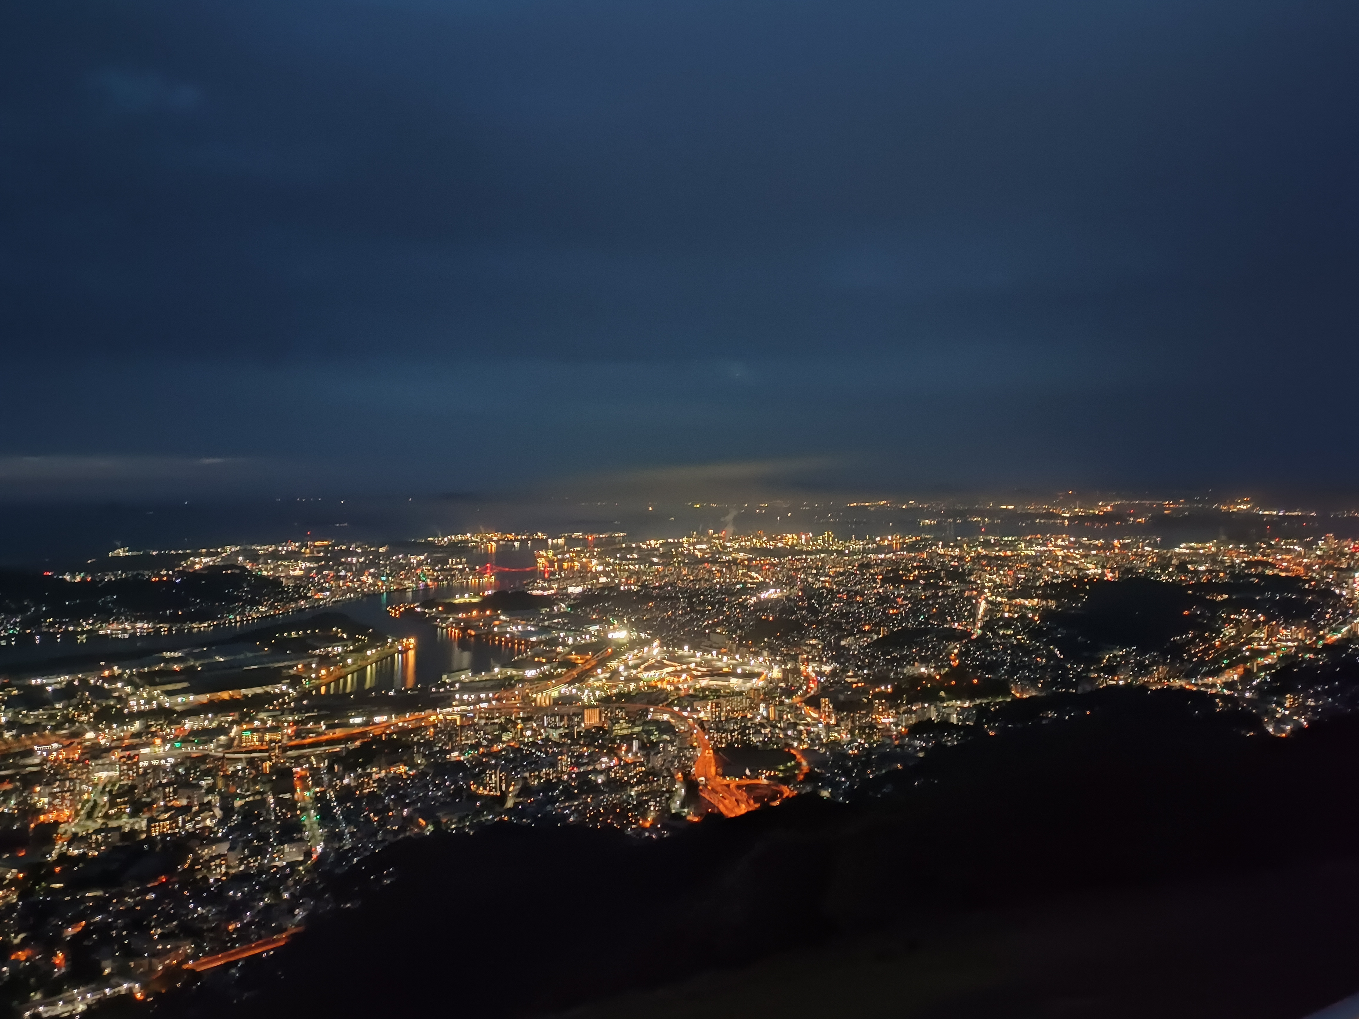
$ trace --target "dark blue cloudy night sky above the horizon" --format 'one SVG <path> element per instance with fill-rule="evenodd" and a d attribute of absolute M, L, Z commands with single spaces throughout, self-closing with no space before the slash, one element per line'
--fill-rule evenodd
<path fill-rule="evenodd" d="M 1352 0 L 10 3 L 0 484 L 1345 486 L 1356 53 Z"/>

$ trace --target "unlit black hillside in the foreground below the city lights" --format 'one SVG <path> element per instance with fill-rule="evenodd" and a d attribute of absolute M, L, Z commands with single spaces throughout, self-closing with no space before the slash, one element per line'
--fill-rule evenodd
<path fill-rule="evenodd" d="M 152 1009 L 1292 1019 L 1359 990 L 1359 723 L 1079 702 L 860 804 L 406 841 L 337 880 L 353 908 Z"/>

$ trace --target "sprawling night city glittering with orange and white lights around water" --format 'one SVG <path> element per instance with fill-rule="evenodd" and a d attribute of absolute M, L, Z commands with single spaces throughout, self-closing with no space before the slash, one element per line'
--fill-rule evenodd
<path fill-rule="evenodd" d="M 897 889 L 900 909 L 949 884 L 901 884 L 893 865 L 912 852 L 955 864 L 947 838 L 908 846 L 957 837 L 969 815 L 1006 840 L 992 863 L 1040 874 L 1070 840 L 1112 838 L 1099 861 L 1121 852 L 1129 867 L 1137 841 L 1114 845 L 1150 796 L 1143 823 L 1157 834 L 1140 838 L 1205 840 L 1214 864 L 1243 853 L 1260 865 L 1277 848 L 1250 827 L 1256 799 L 1280 783 L 1290 800 L 1332 796 L 1311 755 L 1352 753 L 1359 512 L 1071 492 L 757 504 L 762 526 L 742 533 L 735 507 L 690 508 L 723 511 L 723 526 L 124 546 L 61 575 L 0 572 L 0 929 L 18 946 L 0 995 L 27 1019 L 148 999 L 216 1015 L 246 1000 L 287 1014 L 296 996 L 391 995 L 385 977 L 289 988 L 317 971 L 308 952 L 347 937 L 347 909 L 382 909 L 389 884 L 408 882 L 406 895 L 413 880 L 421 905 L 400 923 L 417 923 L 424 897 L 477 879 L 455 861 L 507 830 L 544 849 L 573 830 L 595 846 L 569 864 L 537 857 L 553 882 L 557 868 L 612 880 L 594 868 L 621 837 L 652 868 L 660 853 L 688 860 L 669 876 L 682 886 L 705 838 L 786 832 L 800 856 L 844 819 L 853 832 L 877 817 L 912 832 L 877 851 L 889 855 L 875 882 Z M 1271 738 L 1284 757 L 1261 750 Z M 1071 740 L 1083 749 L 1067 758 Z M 1044 777 L 1053 747 L 1065 780 Z M 1230 836 L 1243 818 L 1211 811 L 1195 825 L 1182 807 L 1151 821 L 1174 802 L 1151 792 L 1167 753 L 1195 762 L 1169 769 L 1190 788 L 1181 796 L 1211 789 L 1229 815 L 1245 796 L 1248 829 Z M 1219 773 L 1223 761 L 1237 764 Z M 1055 806 L 1072 768 L 1104 777 Z M 1030 777 L 998 802 L 1011 774 Z M 1078 804 L 1110 781 L 1131 781 L 1108 799 L 1110 818 L 1060 819 L 1083 818 Z M 940 783 L 954 789 L 943 799 Z M 1294 819 L 1313 832 L 1309 852 L 1348 830 L 1324 815 Z M 962 841 L 984 859 L 1000 849 Z M 451 870 L 425 872 L 431 852 Z M 768 846 L 745 852 L 760 863 L 726 865 L 777 878 Z M 1157 880 L 1161 857 L 1146 853 L 1140 880 Z M 984 887 L 992 901 L 1026 886 L 988 875 Z M 760 923 L 802 898 L 761 890 L 746 909 Z M 636 905 L 618 909 L 603 923 Z M 834 923 L 814 929 L 826 937 Z M 650 965 L 641 955 L 607 980 L 648 985 Z M 287 986 L 269 985 L 277 973 Z M 400 1000 L 448 993 L 429 966 L 414 980 Z M 1302 985 L 1288 1000 L 1326 995 Z M 518 1015 L 531 1000 L 485 1007 Z"/>

